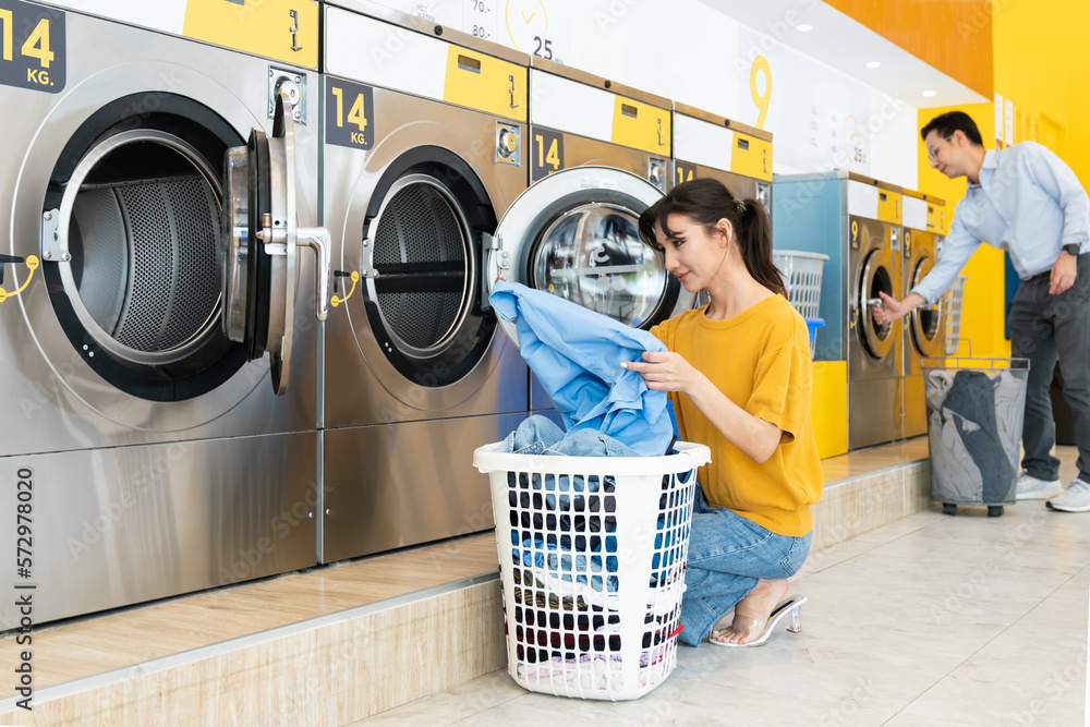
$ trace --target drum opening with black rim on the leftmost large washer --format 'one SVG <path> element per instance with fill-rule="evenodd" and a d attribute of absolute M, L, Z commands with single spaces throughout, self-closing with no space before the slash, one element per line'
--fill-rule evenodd
<path fill-rule="evenodd" d="M 122 391 L 179 401 L 245 363 L 220 330 L 220 165 L 241 140 L 192 102 L 118 123 L 123 102 L 88 120 L 53 169 L 44 272 L 83 361 Z"/>

